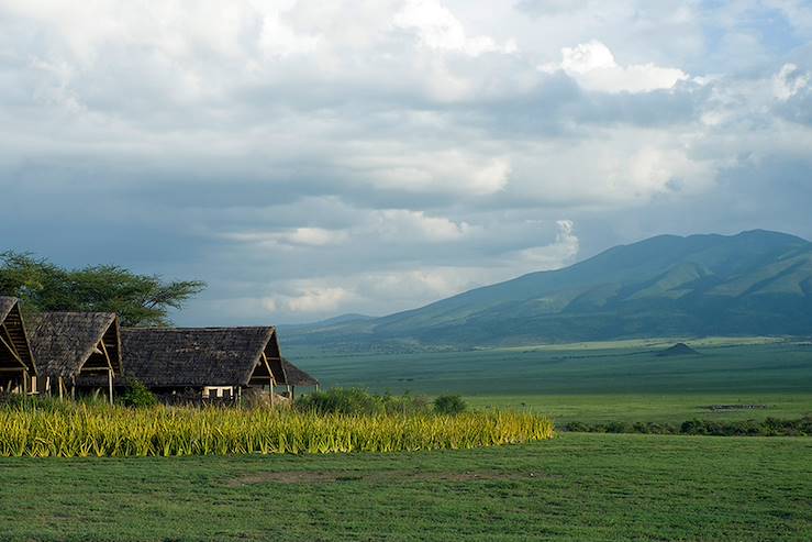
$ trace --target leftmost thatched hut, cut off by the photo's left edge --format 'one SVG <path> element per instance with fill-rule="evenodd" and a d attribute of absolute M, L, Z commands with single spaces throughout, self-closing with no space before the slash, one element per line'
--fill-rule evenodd
<path fill-rule="evenodd" d="M 27 392 L 36 386 L 36 365 L 20 303 L 0 297 L 0 392 Z"/>

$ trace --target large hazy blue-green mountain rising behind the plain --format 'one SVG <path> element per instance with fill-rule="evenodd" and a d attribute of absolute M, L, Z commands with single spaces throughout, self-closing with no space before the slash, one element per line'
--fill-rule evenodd
<path fill-rule="evenodd" d="M 398 351 L 810 333 L 812 243 L 756 230 L 659 235 L 419 309 L 310 327 L 286 342 Z"/>

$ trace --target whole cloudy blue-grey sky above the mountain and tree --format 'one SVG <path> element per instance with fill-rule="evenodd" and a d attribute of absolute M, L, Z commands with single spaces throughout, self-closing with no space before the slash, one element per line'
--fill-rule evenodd
<path fill-rule="evenodd" d="M 386 314 L 652 235 L 812 239 L 812 2 L 0 0 L 0 250 Z"/>

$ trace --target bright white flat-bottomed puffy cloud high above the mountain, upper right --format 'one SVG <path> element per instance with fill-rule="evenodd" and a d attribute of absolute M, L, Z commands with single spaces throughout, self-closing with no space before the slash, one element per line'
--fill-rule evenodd
<path fill-rule="evenodd" d="M 677 82 L 688 79 L 688 74 L 681 69 L 650 63 L 621 66 L 609 47 L 597 40 L 564 47 L 560 64 L 544 65 L 540 69 L 560 69 L 581 87 L 599 92 L 650 92 L 674 88 Z"/>

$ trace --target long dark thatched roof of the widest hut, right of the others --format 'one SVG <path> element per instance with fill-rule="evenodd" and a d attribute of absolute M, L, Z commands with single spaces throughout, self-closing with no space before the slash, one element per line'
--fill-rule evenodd
<path fill-rule="evenodd" d="M 127 376 L 148 387 L 247 386 L 264 352 L 279 378 L 272 327 L 126 329 L 122 344 Z"/>

